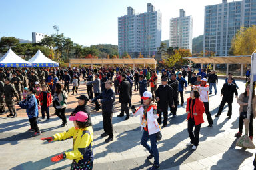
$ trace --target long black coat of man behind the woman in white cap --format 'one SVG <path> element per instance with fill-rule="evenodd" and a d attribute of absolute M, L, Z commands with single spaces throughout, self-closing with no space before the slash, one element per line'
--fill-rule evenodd
<path fill-rule="evenodd" d="M 169 85 L 159 85 L 157 91 L 155 91 L 155 97 L 159 97 L 157 101 L 157 108 L 161 111 L 168 111 L 169 105 L 174 105 L 173 103 L 173 88 Z"/>

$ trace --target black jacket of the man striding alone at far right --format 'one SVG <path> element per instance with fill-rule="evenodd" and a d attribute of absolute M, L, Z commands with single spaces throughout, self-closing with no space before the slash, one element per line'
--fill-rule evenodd
<path fill-rule="evenodd" d="M 230 86 L 228 83 L 225 83 L 221 89 L 221 94 L 223 94 L 222 100 L 223 101 L 233 101 L 235 96 L 238 95 L 237 87 L 232 83 Z"/>

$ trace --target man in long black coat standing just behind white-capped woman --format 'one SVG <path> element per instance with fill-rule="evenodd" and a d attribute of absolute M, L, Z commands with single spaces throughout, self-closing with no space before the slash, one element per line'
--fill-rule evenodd
<path fill-rule="evenodd" d="M 157 109 L 159 113 L 159 118 L 157 119 L 159 125 L 162 123 L 162 112 L 163 112 L 163 127 L 167 125 L 168 119 L 168 106 L 174 107 L 173 103 L 173 88 L 169 85 L 167 77 L 161 79 L 161 85 L 157 88 L 155 93 L 155 99 L 157 99 Z"/>

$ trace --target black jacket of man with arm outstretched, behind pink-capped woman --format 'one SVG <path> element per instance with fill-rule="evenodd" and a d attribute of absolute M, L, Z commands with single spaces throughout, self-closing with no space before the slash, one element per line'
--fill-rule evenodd
<path fill-rule="evenodd" d="M 107 113 L 113 113 L 115 109 L 115 92 L 113 89 L 105 89 L 104 91 L 101 92 L 100 95 L 92 99 L 92 102 L 97 101 L 97 99 L 101 99 L 101 109 L 102 112 L 107 112 Z"/>

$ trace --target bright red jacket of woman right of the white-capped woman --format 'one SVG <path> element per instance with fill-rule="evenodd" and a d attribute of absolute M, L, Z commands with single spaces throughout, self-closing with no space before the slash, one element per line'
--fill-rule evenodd
<path fill-rule="evenodd" d="M 192 105 L 190 105 L 189 101 L 190 101 L 191 97 L 187 98 L 187 107 L 186 107 L 186 111 L 189 111 L 189 107 L 191 107 L 192 109 Z M 205 112 L 205 106 L 203 105 L 203 101 L 200 101 L 199 98 L 195 99 L 195 105 L 193 107 L 193 112 L 197 113 L 194 116 L 194 120 L 195 120 L 195 125 L 199 125 L 201 123 L 204 123 L 205 121 L 203 121 L 203 113 Z M 187 120 L 189 120 L 189 117 L 191 116 L 190 113 L 187 114 Z"/>

